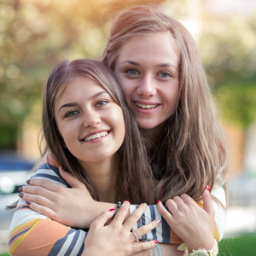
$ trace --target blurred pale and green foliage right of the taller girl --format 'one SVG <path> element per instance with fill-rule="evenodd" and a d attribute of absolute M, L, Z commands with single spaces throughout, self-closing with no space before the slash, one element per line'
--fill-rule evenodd
<path fill-rule="evenodd" d="M 225 121 L 246 129 L 256 119 L 256 15 L 203 23 L 199 51 Z"/>

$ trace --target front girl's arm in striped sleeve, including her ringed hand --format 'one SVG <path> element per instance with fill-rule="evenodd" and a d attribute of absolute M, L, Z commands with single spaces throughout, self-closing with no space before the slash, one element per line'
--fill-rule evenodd
<path fill-rule="evenodd" d="M 44 177 L 55 184 L 65 186 L 67 183 L 59 176 L 55 166 L 45 164 L 36 170 L 32 177 Z M 9 231 L 8 250 L 11 255 L 101 255 L 110 252 L 111 255 L 131 255 L 141 253 L 154 247 L 155 242 L 134 242 L 135 236 L 131 233 L 132 226 L 145 211 L 145 205 L 138 207 L 129 218 L 125 219 L 130 203 L 126 201 L 121 206 L 113 221 L 105 226 L 105 220 L 113 217 L 114 209 L 102 212 L 91 224 L 90 230 L 78 230 L 60 224 L 43 214 L 33 211 L 20 199 L 16 207 Z M 74 216 L 73 216 L 74 218 Z M 136 230 L 138 238 L 159 224 L 154 220 Z M 85 239 L 86 238 L 86 239 Z M 108 241 L 108 242 L 106 242 Z M 117 246 L 118 242 L 118 246 Z M 101 246 L 99 246 L 101 245 Z M 101 251 L 99 251 L 101 249 Z M 106 254 L 108 255 L 108 254 Z M 144 255 L 144 254 L 142 254 Z M 146 255 L 146 254 L 145 254 Z"/>

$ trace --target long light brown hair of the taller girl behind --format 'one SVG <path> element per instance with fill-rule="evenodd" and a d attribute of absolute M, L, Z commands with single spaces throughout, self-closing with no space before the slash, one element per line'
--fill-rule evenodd
<path fill-rule="evenodd" d="M 229 157 L 224 131 L 219 124 L 205 71 L 194 39 L 177 20 L 150 6 L 136 6 L 114 20 L 102 61 L 115 70 L 127 39 L 171 32 L 179 54 L 180 95 L 176 112 L 167 120 L 165 134 L 151 148 L 156 195 L 163 201 L 187 193 L 195 200 L 207 184 L 225 183 Z"/>

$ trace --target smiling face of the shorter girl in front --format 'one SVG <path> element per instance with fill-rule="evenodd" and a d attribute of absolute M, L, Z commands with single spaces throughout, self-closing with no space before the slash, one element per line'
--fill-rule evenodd
<path fill-rule="evenodd" d="M 55 96 L 55 120 L 65 147 L 80 163 L 115 154 L 125 137 L 122 109 L 101 85 L 79 77 Z"/>

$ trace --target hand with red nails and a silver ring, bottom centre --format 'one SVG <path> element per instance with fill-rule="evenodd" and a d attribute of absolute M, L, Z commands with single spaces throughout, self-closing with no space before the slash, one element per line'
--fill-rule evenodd
<path fill-rule="evenodd" d="M 83 256 L 126 256 L 148 250 L 154 247 L 158 241 L 139 242 L 135 240 L 134 234 L 131 232 L 134 224 L 145 212 L 147 205 L 142 204 L 129 218 L 125 220 L 126 212 L 130 207 L 130 203 L 125 201 L 119 208 L 119 212 L 113 218 L 112 222 L 104 225 L 109 218 L 113 217 L 114 209 L 102 212 L 96 220 L 90 224 L 90 230 L 84 241 Z M 154 220 L 150 224 L 137 229 L 135 232 L 137 238 L 153 230 L 158 224 L 159 220 Z"/>

